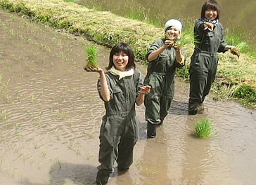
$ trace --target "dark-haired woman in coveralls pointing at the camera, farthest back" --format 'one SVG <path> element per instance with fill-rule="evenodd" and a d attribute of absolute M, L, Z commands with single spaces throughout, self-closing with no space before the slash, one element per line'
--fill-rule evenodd
<path fill-rule="evenodd" d="M 194 27 L 195 49 L 191 57 L 190 93 L 188 114 L 197 114 L 203 106 L 205 96 L 209 94 L 215 81 L 218 64 L 218 53 L 235 49 L 224 43 L 224 29 L 219 22 L 219 4 L 208 0 L 203 4 L 201 18 L 196 20 Z"/>

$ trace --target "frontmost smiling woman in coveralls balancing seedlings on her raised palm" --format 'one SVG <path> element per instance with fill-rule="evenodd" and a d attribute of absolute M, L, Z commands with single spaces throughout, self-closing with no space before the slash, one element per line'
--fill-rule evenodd
<path fill-rule="evenodd" d="M 143 86 L 141 72 L 135 68 L 134 53 L 126 43 L 117 43 L 110 51 L 104 73 L 99 69 L 98 93 L 105 103 L 100 131 L 100 149 L 96 184 L 107 184 L 115 160 L 118 170 L 128 170 L 138 140 L 135 103 L 141 105 L 150 86 Z"/>

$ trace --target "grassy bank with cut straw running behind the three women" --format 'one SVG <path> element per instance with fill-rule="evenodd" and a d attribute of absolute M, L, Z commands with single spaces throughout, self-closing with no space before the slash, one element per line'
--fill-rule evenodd
<path fill-rule="evenodd" d="M 0 0 L 1 8 L 27 15 L 34 21 L 43 22 L 71 34 L 86 36 L 98 44 L 112 47 L 115 43 L 128 43 L 136 58 L 146 64 L 145 54 L 151 43 L 164 36 L 162 28 L 146 22 L 122 18 L 110 12 L 95 11 L 62 0 Z M 188 66 L 193 53 L 193 32 L 184 27 L 182 36 L 188 64 L 177 75 L 188 79 Z M 219 67 L 214 89 L 220 96 L 237 97 L 255 106 L 256 62 L 255 58 L 241 54 L 238 58 L 230 52 L 219 54 Z M 249 96 L 248 96 L 249 95 Z"/>

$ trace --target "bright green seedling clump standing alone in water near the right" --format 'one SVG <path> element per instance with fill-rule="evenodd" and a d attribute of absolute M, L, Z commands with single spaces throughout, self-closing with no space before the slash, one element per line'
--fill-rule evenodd
<path fill-rule="evenodd" d="M 207 118 L 196 122 L 194 133 L 196 137 L 203 138 L 212 134 L 212 122 Z"/>

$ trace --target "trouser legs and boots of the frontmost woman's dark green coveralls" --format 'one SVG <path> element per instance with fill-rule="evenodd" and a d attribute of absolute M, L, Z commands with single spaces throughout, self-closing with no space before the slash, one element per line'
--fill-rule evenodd
<path fill-rule="evenodd" d="M 101 125 L 100 151 L 96 183 L 106 184 L 108 177 L 114 171 L 117 161 L 118 170 L 128 170 L 133 163 L 134 146 L 138 140 L 138 125 L 136 117 L 104 116 Z"/>

